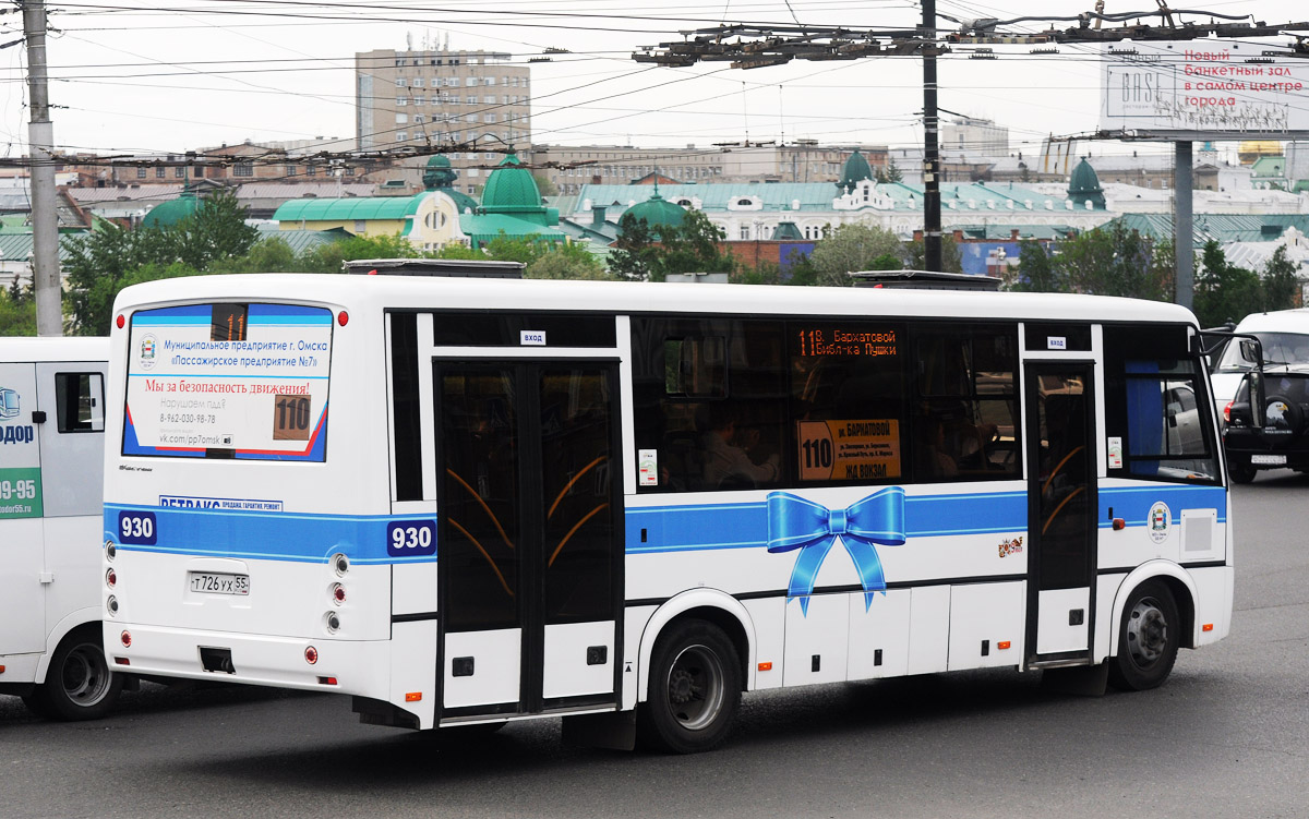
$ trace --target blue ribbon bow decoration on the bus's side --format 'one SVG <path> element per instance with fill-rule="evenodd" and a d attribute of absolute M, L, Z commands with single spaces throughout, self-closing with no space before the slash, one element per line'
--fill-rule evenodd
<path fill-rule="evenodd" d="M 836 538 L 855 561 L 867 610 L 873 603 L 874 593 L 886 591 L 886 577 L 874 544 L 905 544 L 905 489 L 889 487 L 846 509 L 827 509 L 788 492 L 768 495 L 768 551 L 800 549 L 796 566 L 791 570 L 787 601 L 798 597 L 800 611 L 805 616 L 809 615 L 809 595 L 813 594 L 818 569 Z"/>

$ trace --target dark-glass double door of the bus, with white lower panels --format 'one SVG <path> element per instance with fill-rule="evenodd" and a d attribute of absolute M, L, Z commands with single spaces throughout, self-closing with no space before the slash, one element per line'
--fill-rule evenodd
<path fill-rule="evenodd" d="M 618 701 L 618 365 L 436 361 L 442 716 Z"/>

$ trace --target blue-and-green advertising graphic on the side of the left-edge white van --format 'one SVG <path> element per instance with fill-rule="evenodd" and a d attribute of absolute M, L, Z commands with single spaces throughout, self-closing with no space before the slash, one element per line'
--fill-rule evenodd
<path fill-rule="evenodd" d="M 37 369 L 0 364 L 0 521 L 42 515 L 35 408 Z"/>

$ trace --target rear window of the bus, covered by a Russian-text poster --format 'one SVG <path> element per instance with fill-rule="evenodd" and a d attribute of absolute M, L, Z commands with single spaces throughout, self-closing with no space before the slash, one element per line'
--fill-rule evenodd
<path fill-rule="evenodd" d="M 123 454 L 325 459 L 332 314 L 213 304 L 132 315 Z"/>

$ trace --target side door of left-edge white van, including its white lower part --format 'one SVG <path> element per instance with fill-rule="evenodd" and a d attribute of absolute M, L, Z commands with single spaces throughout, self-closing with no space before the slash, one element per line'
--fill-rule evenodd
<path fill-rule="evenodd" d="M 37 399 L 35 365 L 0 364 L 0 654 L 46 650 Z"/>

